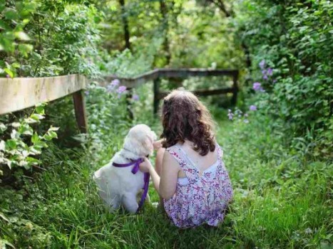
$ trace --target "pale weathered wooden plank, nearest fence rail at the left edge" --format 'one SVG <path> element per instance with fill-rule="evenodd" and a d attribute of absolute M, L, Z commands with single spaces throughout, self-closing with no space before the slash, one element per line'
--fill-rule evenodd
<path fill-rule="evenodd" d="M 83 75 L 47 78 L 0 78 L 0 115 L 56 100 L 86 88 Z"/>

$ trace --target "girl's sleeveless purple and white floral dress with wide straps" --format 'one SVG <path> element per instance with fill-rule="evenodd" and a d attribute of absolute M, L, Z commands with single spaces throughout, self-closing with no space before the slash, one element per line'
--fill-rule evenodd
<path fill-rule="evenodd" d="M 177 144 L 166 149 L 178 161 L 188 179 L 178 179 L 175 194 L 164 200 L 166 213 L 179 228 L 203 223 L 217 226 L 225 217 L 225 209 L 233 195 L 232 186 L 222 161 L 222 149 L 218 144 L 216 148 L 216 169 L 210 170 L 213 164 L 205 171 L 200 171 Z"/>

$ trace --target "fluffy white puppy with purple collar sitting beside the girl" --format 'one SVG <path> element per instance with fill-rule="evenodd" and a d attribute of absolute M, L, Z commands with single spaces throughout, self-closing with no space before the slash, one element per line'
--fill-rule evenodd
<path fill-rule="evenodd" d="M 111 161 L 98 169 L 93 179 L 98 185 L 98 194 L 113 211 L 122 204 L 127 211 L 135 213 L 138 209 L 136 196 L 143 189 L 143 172 L 133 174 L 132 166 L 116 167 L 116 164 L 128 164 L 130 161 L 147 157 L 153 153 L 156 134 L 145 124 L 135 125 L 125 137 L 123 149 L 117 152 Z"/>

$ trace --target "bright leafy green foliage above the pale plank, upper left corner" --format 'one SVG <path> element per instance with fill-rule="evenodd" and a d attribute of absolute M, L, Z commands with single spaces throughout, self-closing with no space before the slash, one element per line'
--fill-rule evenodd
<path fill-rule="evenodd" d="M 100 53 L 98 23 L 102 16 L 93 5 L 35 0 L 8 1 L 3 6 L 1 75 L 99 75 L 93 57 Z"/>

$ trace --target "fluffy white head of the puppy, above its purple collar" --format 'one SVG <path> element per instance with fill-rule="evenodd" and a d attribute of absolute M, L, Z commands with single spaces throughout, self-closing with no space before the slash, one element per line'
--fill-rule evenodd
<path fill-rule="evenodd" d="M 145 124 L 137 124 L 131 128 L 125 137 L 124 148 L 140 157 L 153 154 L 153 142 L 156 134 Z"/>

